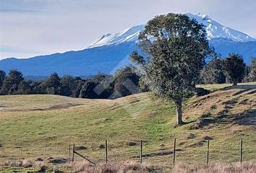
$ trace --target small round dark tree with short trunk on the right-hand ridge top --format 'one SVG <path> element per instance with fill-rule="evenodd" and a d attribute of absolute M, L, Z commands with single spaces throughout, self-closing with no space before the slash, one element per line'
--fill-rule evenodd
<path fill-rule="evenodd" d="M 228 58 L 223 60 L 223 69 L 226 71 L 226 75 L 236 86 L 239 81 L 242 81 L 245 71 L 245 63 L 242 56 L 231 53 Z"/>

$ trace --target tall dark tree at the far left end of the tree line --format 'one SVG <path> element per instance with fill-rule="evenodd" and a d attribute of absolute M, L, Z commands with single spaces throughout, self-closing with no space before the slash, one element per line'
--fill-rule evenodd
<path fill-rule="evenodd" d="M 17 70 L 9 71 L 9 75 L 4 79 L 2 86 L 2 92 L 4 94 L 15 94 L 17 93 L 18 85 L 20 81 L 23 81 L 22 72 Z"/>

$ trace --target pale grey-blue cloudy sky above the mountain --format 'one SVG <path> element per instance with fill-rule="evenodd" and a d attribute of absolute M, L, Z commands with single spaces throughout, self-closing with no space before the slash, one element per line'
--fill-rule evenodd
<path fill-rule="evenodd" d="M 256 37 L 255 0 L 0 0 L 0 59 L 82 50 L 168 12 L 208 14 Z"/>

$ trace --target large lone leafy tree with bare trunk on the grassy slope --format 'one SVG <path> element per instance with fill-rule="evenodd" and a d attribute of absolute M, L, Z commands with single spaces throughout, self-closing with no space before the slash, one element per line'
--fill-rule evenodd
<path fill-rule="evenodd" d="M 166 14 L 151 19 L 140 32 L 142 54 L 131 60 L 142 70 L 142 79 L 158 97 L 176 105 L 176 121 L 182 121 L 182 101 L 195 92 L 205 57 L 212 51 L 203 25 L 186 14 Z"/>

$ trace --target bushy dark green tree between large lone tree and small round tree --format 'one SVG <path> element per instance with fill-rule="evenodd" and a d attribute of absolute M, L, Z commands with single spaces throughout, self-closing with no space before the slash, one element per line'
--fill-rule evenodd
<path fill-rule="evenodd" d="M 223 84 L 226 82 L 221 58 L 213 58 L 201 71 L 202 84 Z"/>

